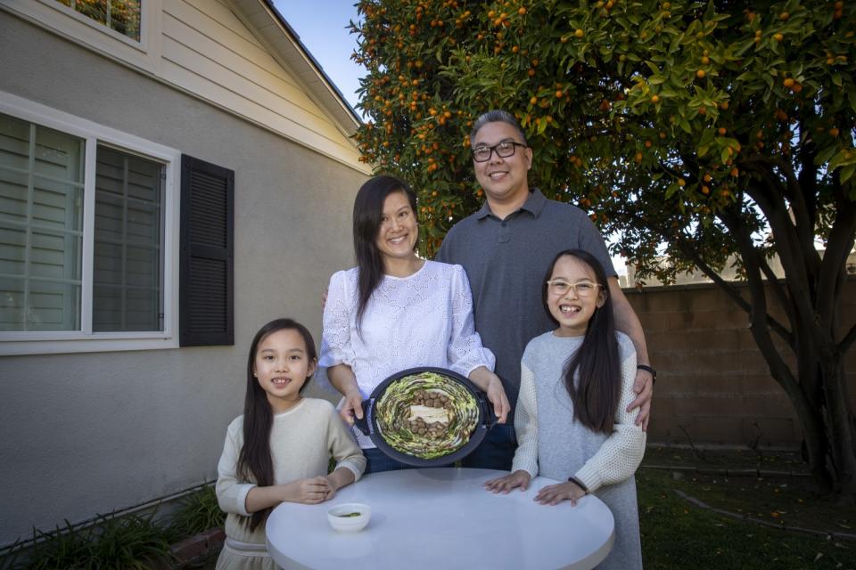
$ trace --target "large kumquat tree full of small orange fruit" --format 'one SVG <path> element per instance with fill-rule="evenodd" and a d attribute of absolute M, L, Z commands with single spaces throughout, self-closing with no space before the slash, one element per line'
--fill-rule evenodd
<path fill-rule="evenodd" d="M 357 140 L 364 160 L 416 188 L 424 254 L 481 204 L 473 119 L 513 112 L 535 151 L 530 183 L 588 211 L 639 277 L 697 268 L 745 309 L 819 488 L 854 500 L 844 354 L 856 325 L 840 309 L 856 232 L 856 4 L 363 0 L 358 11 Z M 732 263 L 747 288 L 720 278 Z"/>

